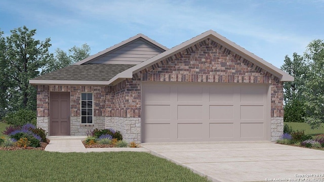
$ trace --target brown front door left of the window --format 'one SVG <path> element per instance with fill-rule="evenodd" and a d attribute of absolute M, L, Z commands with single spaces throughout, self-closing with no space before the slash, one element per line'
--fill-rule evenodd
<path fill-rule="evenodd" d="M 70 135 L 70 93 L 50 93 L 50 135 Z"/>

